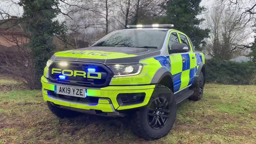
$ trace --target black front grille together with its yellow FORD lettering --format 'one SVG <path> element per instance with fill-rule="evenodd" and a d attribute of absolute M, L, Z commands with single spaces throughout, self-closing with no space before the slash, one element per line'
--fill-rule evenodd
<path fill-rule="evenodd" d="M 59 63 L 54 61 L 49 66 L 49 80 L 58 84 L 105 87 L 113 77 L 113 72 L 104 64 L 68 61 L 61 66 Z"/>

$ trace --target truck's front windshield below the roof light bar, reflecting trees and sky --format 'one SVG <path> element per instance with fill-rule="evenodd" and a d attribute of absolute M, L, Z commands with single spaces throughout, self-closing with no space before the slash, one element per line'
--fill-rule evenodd
<path fill-rule="evenodd" d="M 157 29 L 126 29 L 113 31 L 93 46 L 160 48 L 167 31 Z"/>

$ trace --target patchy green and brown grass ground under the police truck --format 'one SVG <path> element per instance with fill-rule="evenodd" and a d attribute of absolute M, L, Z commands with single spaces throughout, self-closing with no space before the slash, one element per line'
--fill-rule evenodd
<path fill-rule="evenodd" d="M 131 125 L 91 115 L 58 119 L 41 91 L 0 90 L 0 144 L 256 144 L 256 86 L 206 84 L 202 100 L 178 106 L 174 128 L 160 140 L 137 138 Z"/>

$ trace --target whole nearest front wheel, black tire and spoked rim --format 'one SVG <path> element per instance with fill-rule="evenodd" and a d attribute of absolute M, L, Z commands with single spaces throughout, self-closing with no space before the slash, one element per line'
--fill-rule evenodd
<path fill-rule="evenodd" d="M 137 111 L 137 135 L 145 140 L 165 137 L 175 123 L 176 112 L 173 92 L 168 87 L 156 85 L 149 104 Z"/>

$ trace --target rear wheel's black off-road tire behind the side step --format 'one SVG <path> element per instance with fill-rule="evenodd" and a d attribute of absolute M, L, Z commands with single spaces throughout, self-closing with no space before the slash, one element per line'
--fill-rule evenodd
<path fill-rule="evenodd" d="M 195 87 L 191 88 L 194 91 L 193 95 L 190 96 L 188 99 L 193 101 L 198 101 L 203 98 L 203 90 L 204 90 L 205 82 L 203 73 L 200 72 L 199 77 L 197 79 L 197 84 Z"/>

